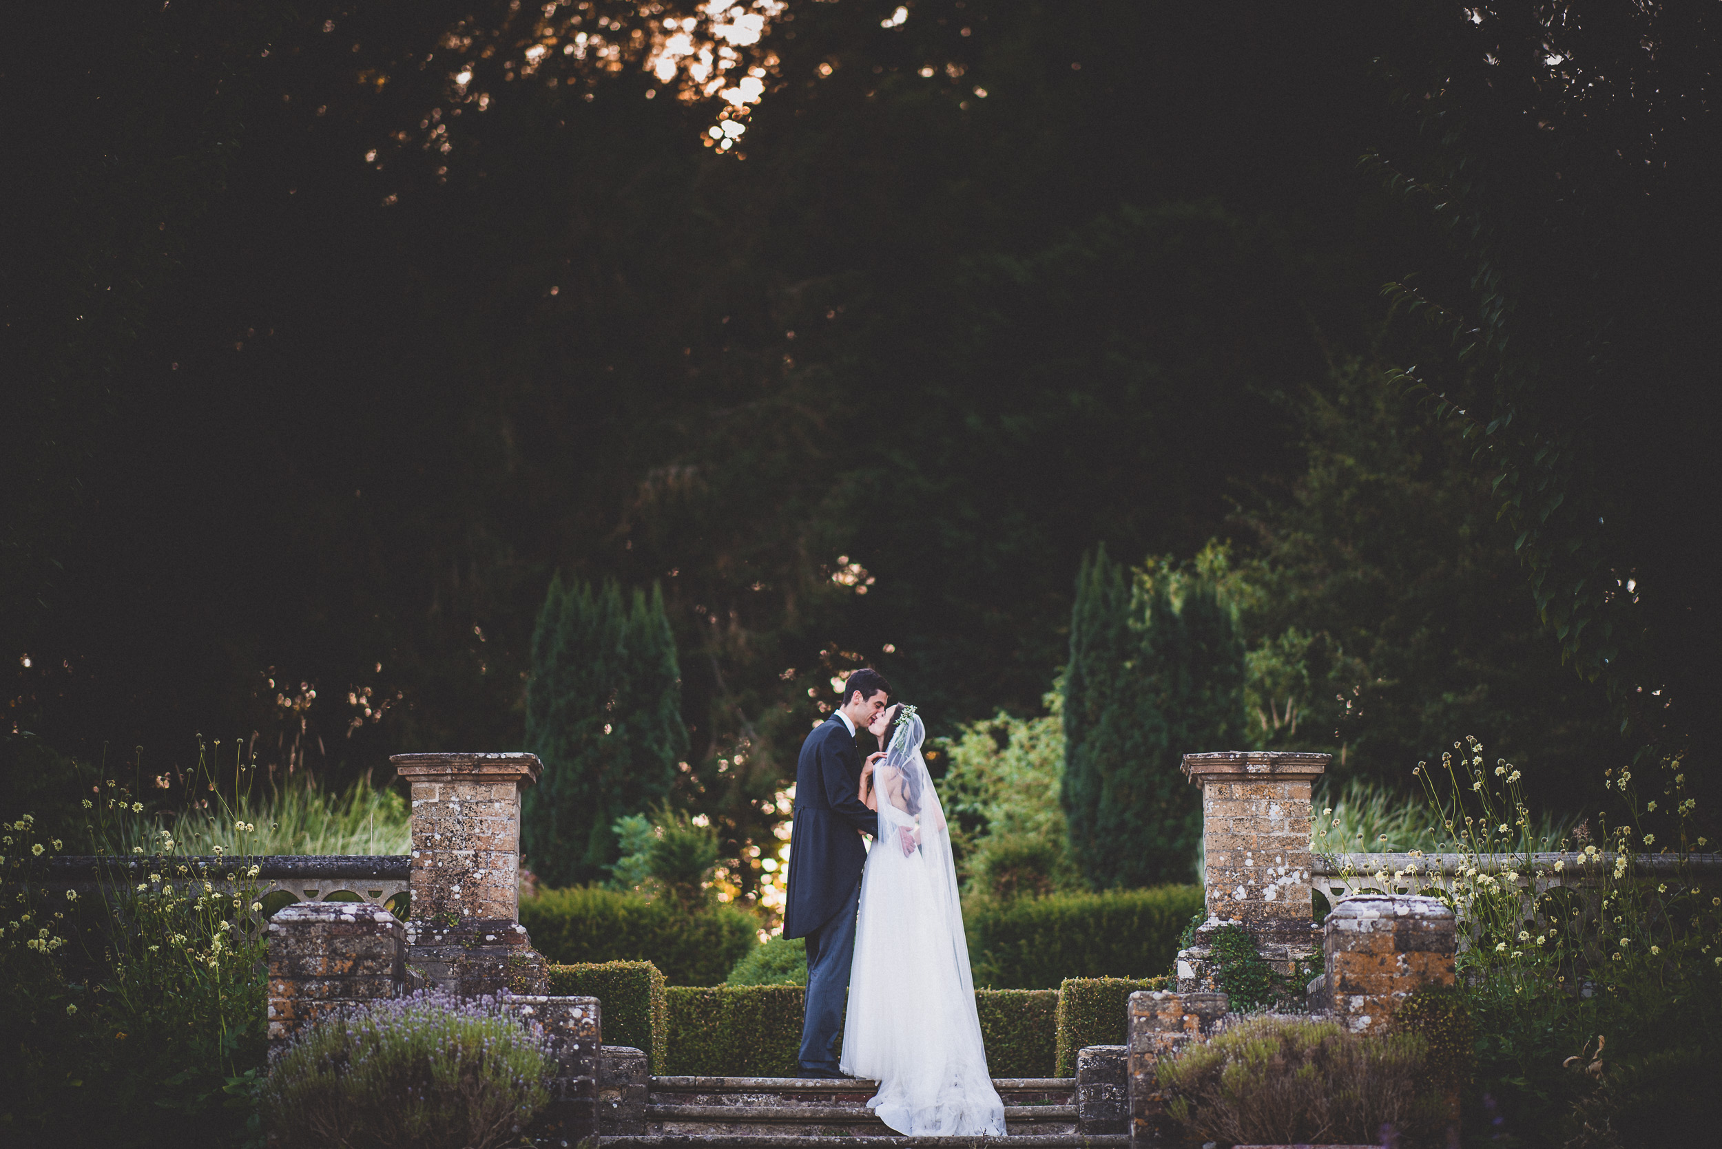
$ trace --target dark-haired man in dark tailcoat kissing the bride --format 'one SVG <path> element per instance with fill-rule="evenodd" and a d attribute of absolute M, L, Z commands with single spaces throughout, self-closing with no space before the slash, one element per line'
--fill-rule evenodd
<path fill-rule="evenodd" d="M 859 796 L 856 731 L 873 722 L 889 697 L 890 683 L 878 671 L 851 674 L 844 704 L 813 728 L 796 765 L 784 937 L 808 939 L 802 1077 L 844 1077 L 837 1068 L 837 1029 L 844 1022 L 849 960 L 856 949 L 856 900 L 866 862 L 861 834 L 878 838 L 878 815 Z"/>

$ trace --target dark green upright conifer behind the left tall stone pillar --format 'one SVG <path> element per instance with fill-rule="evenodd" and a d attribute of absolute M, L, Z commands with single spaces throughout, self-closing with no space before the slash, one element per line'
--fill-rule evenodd
<path fill-rule="evenodd" d="M 544 762 L 522 846 L 551 886 L 601 881 L 615 820 L 661 802 L 687 753 L 663 593 L 551 580 L 532 631 L 525 743 Z"/>

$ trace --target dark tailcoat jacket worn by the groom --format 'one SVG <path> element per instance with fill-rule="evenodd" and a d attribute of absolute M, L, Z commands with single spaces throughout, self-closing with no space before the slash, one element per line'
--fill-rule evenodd
<path fill-rule="evenodd" d="M 861 753 L 835 714 L 801 743 L 796 765 L 796 826 L 789 838 L 789 905 L 784 937 L 806 937 L 837 913 L 861 881 L 878 815 L 861 802 Z"/>

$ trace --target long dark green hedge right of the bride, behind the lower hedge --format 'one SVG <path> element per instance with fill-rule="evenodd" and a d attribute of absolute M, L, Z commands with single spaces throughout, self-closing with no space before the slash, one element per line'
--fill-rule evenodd
<path fill-rule="evenodd" d="M 975 901 L 963 908 L 975 984 L 1054 989 L 1066 977 L 1154 977 L 1202 908 L 1200 886 Z"/>

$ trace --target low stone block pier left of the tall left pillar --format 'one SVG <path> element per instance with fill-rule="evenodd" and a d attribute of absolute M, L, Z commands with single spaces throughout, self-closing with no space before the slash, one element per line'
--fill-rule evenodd
<path fill-rule="evenodd" d="M 269 1056 L 341 1006 L 396 998 L 406 936 L 362 901 L 298 901 L 269 922 Z"/>

